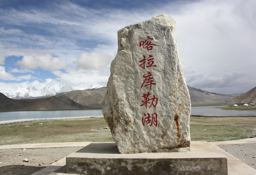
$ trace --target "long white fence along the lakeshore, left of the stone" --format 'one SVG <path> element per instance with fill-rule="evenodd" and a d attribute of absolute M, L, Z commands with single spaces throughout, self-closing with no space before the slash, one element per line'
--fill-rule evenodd
<path fill-rule="evenodd" d="M 47 121 L 47 120 L 65 120 L 65 119 L 82 119 L 82 118 L 98 118 L 101 116 L 82 116 L 82 117 L 57 117 L 57 118 L 29 118 L 29 119 L 19 119 L 19 120 L 8 120 L 0 121 L 0 125 L 10 124 L 10 123 L 19 123 L 19 122 L 35 122 L 35 121 Z"/>

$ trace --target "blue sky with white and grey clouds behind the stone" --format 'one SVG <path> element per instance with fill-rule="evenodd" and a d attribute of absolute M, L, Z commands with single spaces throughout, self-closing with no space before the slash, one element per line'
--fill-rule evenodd
<path fill-rule="evenodd" d="M 117 31 L 161 14 L 176 21 L 187 85 L 223 94 L 256 86 L 255 0 L 0 0 L 0 91 L 106 85 Z"/>

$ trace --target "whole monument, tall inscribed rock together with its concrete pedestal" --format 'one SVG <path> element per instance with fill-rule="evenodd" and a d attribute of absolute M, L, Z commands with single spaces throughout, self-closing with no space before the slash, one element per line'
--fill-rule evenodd
<path fill-rule="evenodd" d="M 115 143 L 89 143 L 68 155 L 67 173 L 228 174 L 227 158 L 211 144 L 190 145 L 191 105 L 174 27 L 160 15 L 118 31 L 102 102 Z"/>

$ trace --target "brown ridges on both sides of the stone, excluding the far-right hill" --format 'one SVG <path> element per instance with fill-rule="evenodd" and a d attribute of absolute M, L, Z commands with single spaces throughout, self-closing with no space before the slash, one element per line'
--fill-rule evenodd
<path fill-rule="evenodd" d="M 240 94 L 218 94 L 188 86 L 192 105 L 226 104 Z M 55 95 L 11 99 L 0 93 L 0 111 L 79 110 L 100 109 L 106 87 L 89 90 L 73 90 Z"/>

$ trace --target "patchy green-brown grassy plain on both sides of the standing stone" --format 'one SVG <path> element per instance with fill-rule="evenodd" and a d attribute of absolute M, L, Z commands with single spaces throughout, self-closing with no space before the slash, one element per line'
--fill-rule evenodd
<path fill-rule="evenodd" d="M 40 124 L 42 123 L 42 124 Z M 104 118 L 24 122 L 0 125 L 0 145 L 80 141 L 114 141 Z M 245 138 L 256 128 L 256 117 L 190 117 L 191 140 Z"/>

